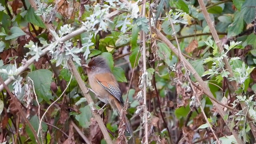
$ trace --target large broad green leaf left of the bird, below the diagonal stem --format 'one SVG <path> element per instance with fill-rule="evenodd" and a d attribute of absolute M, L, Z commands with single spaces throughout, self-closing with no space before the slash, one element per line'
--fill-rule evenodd
<path fill-rule="evenodd" d="M 30 77 L 34 81 L 34 87 L 38 96 L 38 101 L 42 102 L 42 99 L 49 102 L 53 98 L 50 93 L 50 86 L 52 83 L 52 72 L 46 69 L 40 69 L 30 72 L 27 77 Z"/>

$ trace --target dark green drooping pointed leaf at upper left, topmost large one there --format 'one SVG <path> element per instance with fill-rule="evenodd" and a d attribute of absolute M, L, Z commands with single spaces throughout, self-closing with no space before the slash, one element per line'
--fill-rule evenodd
<path fill-rule="evenodd" d="M 31 6 L 28 8 L 25 20 L 36 26 L 40 26 L 41 28 L 46 28 L 42 19 L 35 14 L 34 9 Z"/>

